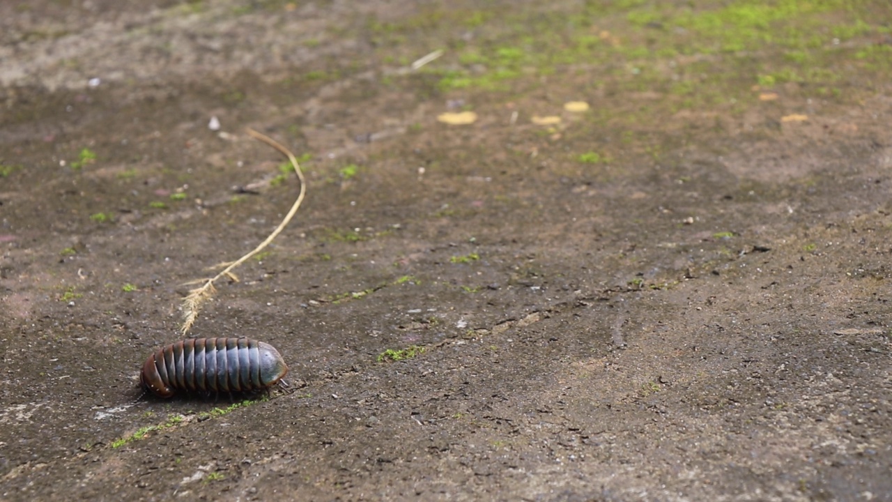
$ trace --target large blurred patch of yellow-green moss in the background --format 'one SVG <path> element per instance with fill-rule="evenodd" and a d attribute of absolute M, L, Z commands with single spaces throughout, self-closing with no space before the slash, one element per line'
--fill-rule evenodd
<path fill-rule="evenodd" d="M 749 85 L 740 84 L 755 80 L 757 74 L 772 77 L 775 84 L 804 81 L 828 86 L 843 77 L 838 71 L 821 71 L 845 58 L 874 73 L 869 79 L 882 79 L 879 73 L 888 69 L 892 49 L 869 42 L 889 33 L 875 15 L 876 4 L 729 0 L 706 6 L 631 0 L 583 2 L 548 13 L 536 9 L 503 12 L 495 5 L 480 5 L 462 10 L 462 20 L 458 13 L 432 6 L 400 21 L 370 19 L 368 30 L 377 55 L 387 64 L 406 65 L 417 57 L 415 47 L 406 41 L 419 30 L 431 34 L 437 44 L 446 41 L 450 51 L 441 60 L 405 77 L 409 79 L 406 86 L 420 85 L 425 93 L 522 92 L 528 85 L 526 77 L 533 72 L 581 74 L 584 71 L 574 65 L 583 63 L 615 67 L 615 71 L 604 71 L 608 88 L 667 93 L 669 98 L 656 108 L 671 113 L 716 107 L 742 113 L 744 108 L 734 104 L 752 95 Z M 485 41 L 450 38 L 454 26 L 466 25 L 464 19 L 495 18 L 499 28 L 488 31 Z M 604 29 L 606 25 L 609 30 Z M 754 71 L 748 61 L 756 52 L 769 54 L 769 59 Z M 702 63 L 684 64 L 687 71 L 661 70 L 674 69 L 680 58 L 702 55 L 708 56 Z M 393 86 L 400 86 L 401 79 L 388 78 Z M 846 94 L 841 97 L 847 98 Z M 848 95 L 847 99 L 857 99 L 856 93 Z M 653 113 L 646 115 L 653 117 Z M 647 119 L 638 113 L 624 115 L 624 121 L 641 120 Z"/>

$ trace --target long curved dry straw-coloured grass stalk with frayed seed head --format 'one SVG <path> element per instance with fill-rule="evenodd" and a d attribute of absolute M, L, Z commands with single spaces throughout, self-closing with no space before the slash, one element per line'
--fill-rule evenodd
<path fill-rule="evenodd" d="M 231 262 L 226 264 L 226 268 L 220 271 L 217 275 L 208 280 L 202 280 L 204 284 L 202 284 L 201 288 L 192 289 L 189 291 L 189 294 L 186 295 L 186 298 L 183 299 L 183 327 L 181 331 L 185 336 L 189 331 L 189 328 L 192 328 L 192 325 L 195 322 L 195 319 L 198 318 L 198 312 L 201 309 L 202 303 L 211 297 L 214 294 L 214 282 L 221 277 L 228 277 L 232 280 L 238 280 L 235 277 L 235 274 L 232 273 L 232 270 L 235 269 L 240 264 L 244 264 L 245 260 L 251 258 L 253 255 L 256 255 L 260 252 L 261 249 L 267 247 L 270 242 L 273 241 L 276 236 L 281 233 L 282 230 L 285 229 L 285 226 L 288 222 L 291 222 L 291 219 L 294 216 L 294 213 L 297 213 L 297 209 L 301 206 L 301 202 L 303 202 L 303 197 L 307 193 L 307 183 L 303 178 L 303 173 L 301 172 L 301 166 L 298 165 L 297 159 L 294 158 L 294 155 L 287 149 L 285 146 L 277 143 L 273 138 L 269 138 L 264 134 L 260 134 L 256 130 L 248 129 L 248 134 L 252 136 L 252 138 L 260 139 L 264 143 L 268 144 L 276 148 L 279 152 L 285 154 L 288 157 L 288 160 L 294 167 L 294 172 L 297 173 L 298 180 L 301 181 L 301 193 L 297 196 L 297 200 L 294 201 L 294 204 L 291 206 L 291 210 L 285 214 L 285 218 L 282 219 L 282 222 L 276 227 L 276 230 L 273 230 L 272 233 L 269 234 L 269 237 L 266 238 L 263 242 L 261 242 L 257 247 L 248 253 L 247 255 L 242 256 L 241 258 L 235 260 L 235 262 Z M 200 281 L 200 282 L 202 282 Z"/>

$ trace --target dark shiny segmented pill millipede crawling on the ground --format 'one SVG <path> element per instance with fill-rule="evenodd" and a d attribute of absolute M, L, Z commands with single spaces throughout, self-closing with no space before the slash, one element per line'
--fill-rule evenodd
<path fill-rule="evenodd" d="M 248 392 L 269 389 L 288 372 L 275 347 L 255 339 L 186 339 L 161 347 L 143 364 L 140 381 L 158 397 L 177 390 Z"/>

